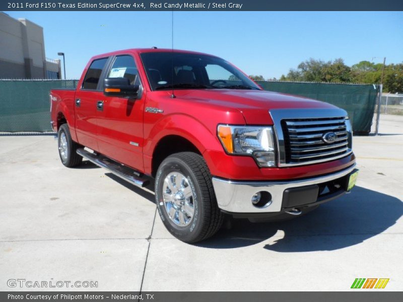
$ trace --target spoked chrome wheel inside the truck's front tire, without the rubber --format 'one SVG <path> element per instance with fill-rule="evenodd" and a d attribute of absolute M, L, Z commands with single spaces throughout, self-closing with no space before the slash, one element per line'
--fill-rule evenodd
<path fill-rule="evenodd" d="M 189 225 L 194 214 L 194 196 L 187 178 L 179 172 L 169 173 L 162 194 L 169 218 L 178 226 Z"/>

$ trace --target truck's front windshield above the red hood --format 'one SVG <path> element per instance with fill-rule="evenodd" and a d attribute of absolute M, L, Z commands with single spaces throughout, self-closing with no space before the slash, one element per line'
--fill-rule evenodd
<path fill-rule="evenodd" d="M 227 61 L 203 54 L 140 54 L 152 90 L 260 88 Z"/>

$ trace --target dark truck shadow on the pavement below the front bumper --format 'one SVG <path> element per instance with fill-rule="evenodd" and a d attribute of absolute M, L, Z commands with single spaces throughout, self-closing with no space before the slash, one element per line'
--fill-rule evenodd
<path fill-rule="evenodd" d="M 234 219 L 230 230 L 197 244 L 231 249 L 267 240 L 264 249 L 276 252 L 332 251 L 362 243 L 385 232 L 403 214 L 398 198 L 355 187 L 345 194 L 293 220 L 252 223 Z"/>

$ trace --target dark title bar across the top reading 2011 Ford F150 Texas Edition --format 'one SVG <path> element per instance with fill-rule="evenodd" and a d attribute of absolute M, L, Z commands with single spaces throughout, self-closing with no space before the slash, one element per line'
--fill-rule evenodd
<path fill-rule="evenodd" d="M 136 3 L 136 5 L 134 5 Z M 79 4 L 82 4 L 81 7 Z M 109 5 L 105 7 L 104 5 Z M 114 6 L 112 6 L 114 5 Z M 403 11 L 401 0 L 2 0 L 0 11 Z"/>

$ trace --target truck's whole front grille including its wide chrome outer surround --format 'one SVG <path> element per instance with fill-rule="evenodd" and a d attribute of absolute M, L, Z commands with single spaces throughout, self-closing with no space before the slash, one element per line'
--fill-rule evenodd
<path fill-rule="evenodd" d="M 327 162 L 352 153 L 352 130 L 343 109 L 274 109 L 270 115 L 279 167 Z M 331 141 L 325 135 L 329 132 Z"/>

